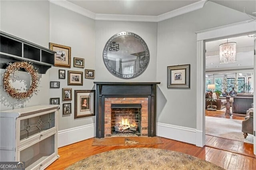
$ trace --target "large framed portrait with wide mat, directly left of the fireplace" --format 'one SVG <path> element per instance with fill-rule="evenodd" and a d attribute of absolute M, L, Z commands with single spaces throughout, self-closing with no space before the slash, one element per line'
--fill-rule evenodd
<path fill-rule="evenodd" d="M 75 90 L 74 119 L 95 116 L 95 90 Z"/>

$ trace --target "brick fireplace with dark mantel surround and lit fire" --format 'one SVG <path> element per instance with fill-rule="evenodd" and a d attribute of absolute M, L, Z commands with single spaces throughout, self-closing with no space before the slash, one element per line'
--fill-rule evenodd
<path fill-rule="evenodd" d="M 96 138 L 156 136 L 156 84 L 159 82 L 94 82 Z M 128 121 L 129 125 L 123 125 Z"/>

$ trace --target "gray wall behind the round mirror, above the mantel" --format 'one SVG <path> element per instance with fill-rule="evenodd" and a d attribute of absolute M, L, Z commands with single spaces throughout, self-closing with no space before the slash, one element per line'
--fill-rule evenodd
<path fill-rule="evenodd" d="M 156 80 L 156 45 L 157 23 L 155 22 L 123 22 L 123 21 L 95 21 L 96 29 L 96 81 L 155 81 Z M 133 32 L 139 35 L 148 45 L 150 51 L 149 65 L 142 75 L 134 79 L 120 79 L 112 75 L 103 62 L 103 49 L 106 42 L 119 32 Z"/>

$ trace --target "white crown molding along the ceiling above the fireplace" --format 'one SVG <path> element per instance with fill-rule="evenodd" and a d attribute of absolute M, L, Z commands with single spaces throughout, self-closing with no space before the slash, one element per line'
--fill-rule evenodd
<path fill-rule="evenodd" d="M 165 14 L 161 14 L 159 16 L 142 16 L 142 15 L 117 15 L 117 14 L 96 14 L 89 10 L 86 10 L 78 5 L 75 5 L 66 0 L 49 0 L 52 4 L 56 4 L 58 6 L 62 6 L 68 10 L 74 11 L 83 16 L 87 16 L 94 20 L 110 20 L 110 21 L 137 21 L 137 22 L 160 22 L 178 15 L 186 14 L 188 12 L 198 10 L 204 7 L 204 4 L 208 0 L 201 0 L 195 2 L 193 4 L 184 6 L 182 8 L 166 12 Z"/>

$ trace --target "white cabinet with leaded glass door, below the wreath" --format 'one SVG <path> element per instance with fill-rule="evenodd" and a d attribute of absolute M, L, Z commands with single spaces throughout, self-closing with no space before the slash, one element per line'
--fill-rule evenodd
<path fill-rule="evenodd" d="M 59 105 L 38 105 L 0 112 L 0 161 L 25 162 L 45 169 L 58 159 Z"/>

